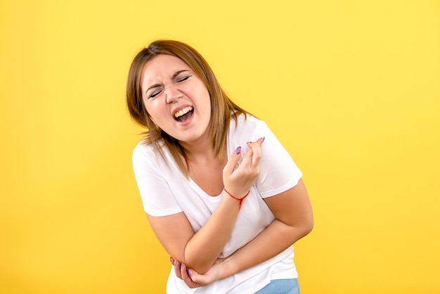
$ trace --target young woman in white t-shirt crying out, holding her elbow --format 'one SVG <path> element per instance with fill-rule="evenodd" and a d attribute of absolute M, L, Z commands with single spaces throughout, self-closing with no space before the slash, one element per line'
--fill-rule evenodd
<path fill-rule="evenodd" d="M 174 266 L 167 293 L 299 293 L 292 244 L 313 215 L 302 172 L 267 125 L 179 41 L 137 54 L 127 105 L 148 129 L 133 166 Z"/>

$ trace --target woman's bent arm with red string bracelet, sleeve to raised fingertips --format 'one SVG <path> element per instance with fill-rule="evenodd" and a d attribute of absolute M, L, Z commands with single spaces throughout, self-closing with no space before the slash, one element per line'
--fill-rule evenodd
<path fill-rule="evenodd" d="M 224 171 L 224 186 L 234 196 L 245 196 L 259 175 L 261 143 L 250 144 L 240 165 L 240 153 L 234 152 Z M 148 221 L 167 253 L 190 269 L 205 273 L 216 262 L 231 236 L 238 216 L 239 201 L 226 196 L 202 228 L 194 233 L 183 212 L 165 217 L 148 215 Z"/>

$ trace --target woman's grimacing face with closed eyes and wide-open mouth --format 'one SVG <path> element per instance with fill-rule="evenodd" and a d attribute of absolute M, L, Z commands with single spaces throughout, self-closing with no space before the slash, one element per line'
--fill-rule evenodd
<path fill-rule="evenodd" d="M 148 61 L 141 88 L 150 119 L 169 136 L 190 143 L 207 134 L 209 92 L 183 60 L 161 54 Z"/>

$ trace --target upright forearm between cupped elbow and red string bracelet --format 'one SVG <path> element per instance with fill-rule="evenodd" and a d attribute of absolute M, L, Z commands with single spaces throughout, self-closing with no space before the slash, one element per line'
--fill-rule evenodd
<path fill-rule="evenodd" d="M 238 203 L 225 195 L 207 222 L 190 238 L 184 253 L 190 269 L 204 273 L 214 264 L 231 236 L 238 216 Z"/>

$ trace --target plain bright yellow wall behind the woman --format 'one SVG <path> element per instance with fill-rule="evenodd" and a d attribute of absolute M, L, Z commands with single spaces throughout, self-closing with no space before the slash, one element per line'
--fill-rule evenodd
<path fill-rule="evenodd" d="M 420 0 L 2 0 L 1 293 L 164 293 L 124 106 L 156 38 L 195 46 L 304 171 L 303 293 L 440 293 L 440 3 Z"/>

